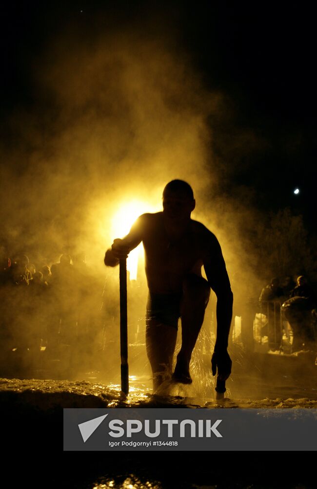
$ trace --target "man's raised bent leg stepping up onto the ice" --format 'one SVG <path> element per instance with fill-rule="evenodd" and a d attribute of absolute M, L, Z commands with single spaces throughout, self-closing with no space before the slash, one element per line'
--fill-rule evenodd
<path fill-rule="evenodd" d="M 202 326 L 205 309 L 210 297 L 210 287 L 202 277 L 188 275 L 183 281 L 183 297 L 180 306 L 181 348 L 173 378 L 178 382 L 190 384 L 189 363 Z"/>

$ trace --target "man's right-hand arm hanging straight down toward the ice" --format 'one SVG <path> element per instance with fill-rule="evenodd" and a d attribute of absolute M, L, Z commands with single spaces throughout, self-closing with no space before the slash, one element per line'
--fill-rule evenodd
<path fill-rule="evenodd" d="M 217 338 L 212 357 L 212 371 L 222 380 L 231 373 L 231 359 L 228 355 L 228 338 L 232 320 L 233 293 L 222 256 L 221 247 L 216 236 L 210 233 L 209 246 L 203 261 L 206 277 L 210 287 L 217 296 Z"/>

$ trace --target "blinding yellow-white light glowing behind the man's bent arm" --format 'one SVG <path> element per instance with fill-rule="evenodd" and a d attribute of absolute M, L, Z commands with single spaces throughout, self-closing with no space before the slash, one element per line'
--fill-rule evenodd
<path fill-rule="evenodd" d="M 149 212 L 149 205 L 145 202 L 132 200 L 122 205 L 113 218 L 113 233 L 116 238 L 124 238 L 131 229 L 132 224 L 144 212 Z M 130 272 L 130 280 L 137 280 L 139 255 L 143 251 L 142 246 L 130 251 L 127 259 L 127 270 Z"/>

